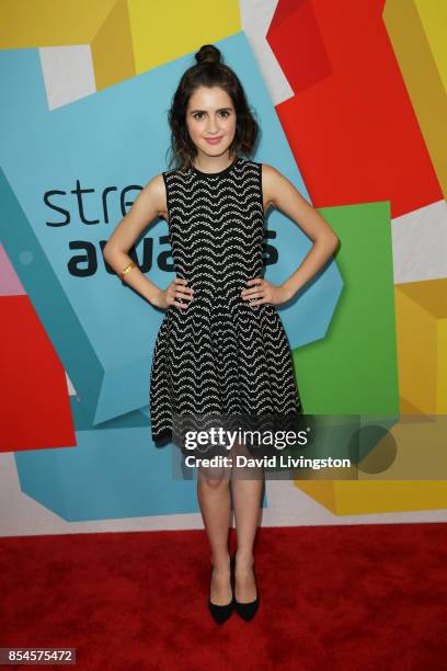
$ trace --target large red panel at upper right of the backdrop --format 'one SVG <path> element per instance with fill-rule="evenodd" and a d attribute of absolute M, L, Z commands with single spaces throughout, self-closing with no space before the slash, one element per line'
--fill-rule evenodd
<path fill-rule="evenodd" d="M 382 9 L 279 0 L 268 31 L 296 93 L 276 110 L 317 207 L 390 201 L 398 217 L 443 198 Z"/>

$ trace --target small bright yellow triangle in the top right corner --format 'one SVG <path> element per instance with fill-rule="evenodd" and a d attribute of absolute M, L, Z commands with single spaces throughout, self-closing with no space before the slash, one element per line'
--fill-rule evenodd
<path fill-rule="evenodd" d="M 447 2 L 415 0 L 415 5 L 444 88 L 447 89 Z"/>

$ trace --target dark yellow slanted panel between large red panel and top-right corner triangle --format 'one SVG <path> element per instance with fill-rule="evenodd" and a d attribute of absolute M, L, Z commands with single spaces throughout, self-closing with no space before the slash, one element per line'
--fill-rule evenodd
<path fill-rule="evenodd" d="M 432 23 L 445 14 L 439 5 L 444 0 L 421 0 L 422 5 L 428 5 L 429 23 L 428 39 L 432 36 L 439 41 L 437 34 L 433 35 Z M 425 14 L 424 14 L 425 15 Z M 435 16 L 434 16 L 435 15 Z M 438 62 L 444 62 L 444 56 L 427 41 L 425 27 L 421 23 L 421 15 L 414 0 L 387 0 L 383 9 L 383 22 L 387 27 L 394 55 L 398 59 L 406 90 L 413 103 L 421 132 L 424 136 L 429 156 L 432 158 L 437 178 L 444 195 L 447 192 L 447 96 Z M 445 41 L 445 25 L 439 21 L 438 31 Z M 444 33 L 444 35 L 442 34 Z"/>

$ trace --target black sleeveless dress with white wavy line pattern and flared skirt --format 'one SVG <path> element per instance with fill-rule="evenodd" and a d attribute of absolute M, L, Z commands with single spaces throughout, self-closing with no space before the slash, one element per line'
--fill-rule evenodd
<path fill-rule="evenodd" d="M 208 427 L 209 417 L 239 428 L 275 417 L 282 427 L 301 413 L 287 337 L 275 306 L 240 295 L 263 274 L 262 163 L 239 157 L 217 173 L 162 175 L 175 274 L 194 297 L 176 298 L 186 309 L 168 307 L 157 336 L 152 440 L 183 448 L 186 428 Z"/>

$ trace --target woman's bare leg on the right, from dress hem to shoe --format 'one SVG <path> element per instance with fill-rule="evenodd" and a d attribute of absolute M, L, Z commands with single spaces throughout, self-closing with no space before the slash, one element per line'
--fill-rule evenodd
<path fill-rule="evenodd" d="M 249 454 L 244 445 L 238 445 L 234 454 Z M 231 478 L 233 493 L 234 519 L 238 537 L 236 553 L 236 585 L 234 598 L 240 603 L 248 603 L 256 599 L 256 583 L 253 575 L 253 544 L 257 532 L 261 496 L 264 486 L 261 468 L 250 468 L 243 471 L 241 467 L 234 469 Z"/>

